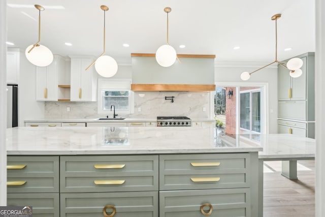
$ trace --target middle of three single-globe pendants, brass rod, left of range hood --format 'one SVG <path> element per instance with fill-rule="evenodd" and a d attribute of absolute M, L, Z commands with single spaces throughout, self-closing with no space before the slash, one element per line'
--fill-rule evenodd
<path fill-rule="evenodd" d="M 104 48 L 103 53 L 95 59 L 87 68 L 88 70 L 93 64 L 95 64 L 96 72 L 105 78 L 113 77 L 118 69 L 115 59 L 111 56 L 105 54 L 105 12 L 108 11 L 108 7 L 105 5 L 101 6 L 101 9 L 104 11 Z"/>

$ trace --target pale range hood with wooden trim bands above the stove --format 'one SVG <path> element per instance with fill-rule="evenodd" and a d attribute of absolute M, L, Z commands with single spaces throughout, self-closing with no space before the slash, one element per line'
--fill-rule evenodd
<path fill-rule="evenodd" d="M 214 91 L 215 55 L 178 54 L 171 67 L 157 64 L 155 54 L 132 53 L 133 91 Z"/>

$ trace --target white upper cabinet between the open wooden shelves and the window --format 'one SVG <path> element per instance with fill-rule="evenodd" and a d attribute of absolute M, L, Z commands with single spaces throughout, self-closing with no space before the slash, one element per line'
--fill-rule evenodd
<path fill-rule="evenodd" d="M 86 68 L 92 63 L 89 56 L 70 56 L 71 58 L 71 101 L 95 102 L 97 88 L 97 74 L 93 67 Z"/>

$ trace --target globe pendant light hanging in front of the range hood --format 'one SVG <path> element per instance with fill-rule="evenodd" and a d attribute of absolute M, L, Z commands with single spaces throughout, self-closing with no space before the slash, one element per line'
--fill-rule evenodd
<path fill-rule="evenodd" d="M 170 67 L 175 63 L 177 58 L 176 50 L 169 45 L 168 38 L 168 13 L 172 11 L 171 8 L 165 8 L 164 11 L 167 13 L 167 44 L 160 46 L 156 51 L 156 61 L 162 67 Z"/>

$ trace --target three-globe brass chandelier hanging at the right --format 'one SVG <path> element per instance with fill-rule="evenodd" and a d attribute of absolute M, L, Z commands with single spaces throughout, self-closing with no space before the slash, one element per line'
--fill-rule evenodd
<path fill-rule="evenodd" d="M 302 66 L 303 66 L 303 60 L 300 59 L 300 58 L 291 58 L 285 65 L 285 62 L 284 61 L 278 61 L 277 59 L 277 45 L 278 45 L 278 39 L 277 39 L 277 19 L 279 19 L 281 17 L 281 14 L 276 14 L 276 15 L 273 15 L 271 17 L 271 20 L 275 20 L 275 60 L 262 67 L 262 68 L 259 68 L 251 73 L 249 72 L 243 72 L 241 75 L 240 75 L 240 78 L 244 81 L 248 80 L 250 78 L 250 75 L 253 74 L 254 72 L 257 72 L 258 70 L 261 70 L 261 69 L 264 69 L 274 63 L 277 63 L 279 64 L 280 66 L 290 70 L 289 72 L 289 75 L 293 78 L 298 78 L 299 76 L 302 75 L 302 70 L 300 69 Z"/>

